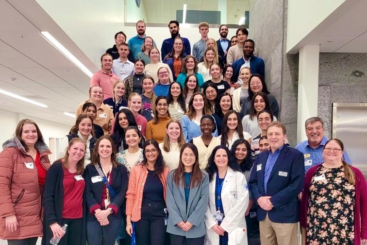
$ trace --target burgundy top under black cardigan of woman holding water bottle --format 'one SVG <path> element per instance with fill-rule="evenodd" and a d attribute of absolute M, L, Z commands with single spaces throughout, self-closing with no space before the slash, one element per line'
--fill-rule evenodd
<path fill-rule="evenodd" d="M 77 180 L 77 173 L 70 173 L 66 168 L 64 170 L 64 219 L 79 219 L 83 217 L 83 192 L 85 187 L 84 179 Z"/>

